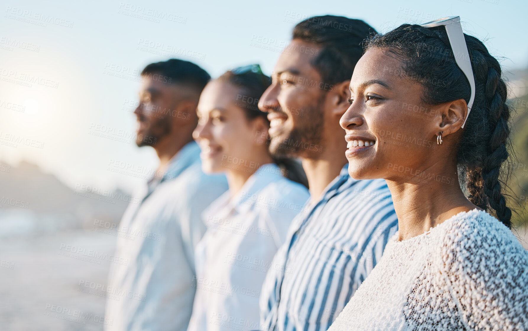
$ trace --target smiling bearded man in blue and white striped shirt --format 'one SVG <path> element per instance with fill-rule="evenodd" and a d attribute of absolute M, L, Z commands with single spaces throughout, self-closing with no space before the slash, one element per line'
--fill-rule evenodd
<path fill-rule="evenodd" d="M 310 191 L 305 212 L 292 222 L 262 287 L 263 330 L 326 330 L 397 230 L 385 181 L 348 176 L 339 124 L 362 41 L 371 33 L 365 22 L 341 16 L 297 24 L 260 98 L 259 108 L 270 120 L 270 151 L 299 157 Z"/>

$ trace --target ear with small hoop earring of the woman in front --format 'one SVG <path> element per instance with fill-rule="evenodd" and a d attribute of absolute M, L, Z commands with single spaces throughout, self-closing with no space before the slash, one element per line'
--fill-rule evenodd
<path fill-rule="evenodd" d="M 442 137 L 446 137 L 460 130 L 467 116 L 466 100 L 446 102 L 439 105 L 437 109 L 435 129 L 438 132 L 434 133 L 435 135 L 442 133 Z"/>

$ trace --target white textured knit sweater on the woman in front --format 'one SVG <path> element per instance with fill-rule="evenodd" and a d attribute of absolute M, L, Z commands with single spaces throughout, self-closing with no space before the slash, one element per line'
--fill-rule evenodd
<path fill-rule="evenodd" d="M 338 330 L 528 330 L 528 252 L 476 209 L 397 233 L 328 329 Z"/>

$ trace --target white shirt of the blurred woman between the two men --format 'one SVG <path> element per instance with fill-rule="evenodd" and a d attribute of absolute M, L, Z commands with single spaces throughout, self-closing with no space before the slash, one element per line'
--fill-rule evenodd
<path fill-rule="evenodd" d="M 196 246 L 196 296 L 188 331 L 257 330 L 259 297 L 275 252 L 309 194 L 261 166 L 231 198 L 224 193 L 204 211 L 208 225 Z"/>

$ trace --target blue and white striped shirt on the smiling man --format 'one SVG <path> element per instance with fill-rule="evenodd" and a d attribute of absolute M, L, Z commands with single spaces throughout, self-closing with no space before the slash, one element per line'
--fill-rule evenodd
<path fill-rule="evenodd" d="M 261 328 L 323 331 L 382 256 L 398 219 L 383 179 L 358 181 L 345 165 L 319 201 L 296 216 L 260 296 Z"/>

